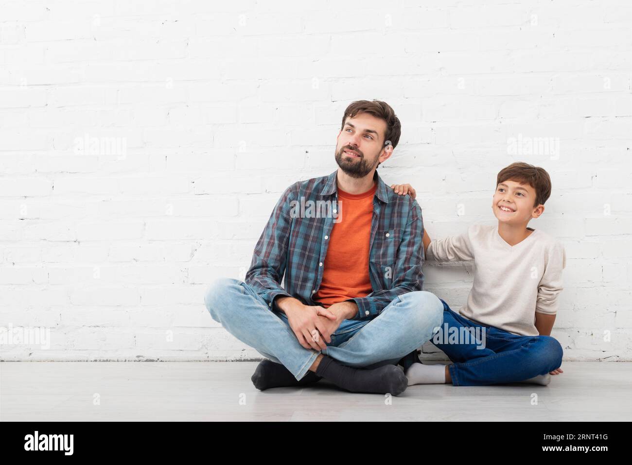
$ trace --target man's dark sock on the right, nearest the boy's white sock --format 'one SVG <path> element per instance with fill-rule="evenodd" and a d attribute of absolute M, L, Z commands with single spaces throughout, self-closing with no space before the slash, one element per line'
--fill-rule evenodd
<path fill-rule="evenodd" d="M 353 368 L 327 355 L 320 360 L 316 374 L 351 392 L 388 392 L 399 396 L 408 387 L 408 378 L 396 365 L 384 365 L 373 370 Z"/>

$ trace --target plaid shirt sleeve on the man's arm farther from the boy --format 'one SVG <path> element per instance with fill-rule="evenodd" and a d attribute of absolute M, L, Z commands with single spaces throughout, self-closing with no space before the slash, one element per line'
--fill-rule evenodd
<path fill-rule="evenodd" d="M 272 308 L 272 303 L 276 297 L 291 297 L 280 283 L 285 273 L 288 257 L 292 220 L 291 201 L 296 195 L 297 186 L 298 183 L 289 186 L 276 203 L 272 214 L 270 214 L 270 219 L 257 241 L 250 269 L 245 277 L 246 284 L 252 286 L 270 308 Z"/>

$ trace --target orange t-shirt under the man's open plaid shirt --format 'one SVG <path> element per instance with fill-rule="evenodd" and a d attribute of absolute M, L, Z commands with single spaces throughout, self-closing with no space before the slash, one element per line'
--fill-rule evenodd
<path fill-rule="evenodd" d="M 338 189 L 340 221 L 332 227 L 322 282 L 312 297 L 325 307 L 365 297 L 373 291 L 368 275 L 368 252 L 376 190 L 377 183 L 362 194 L 349 194 Z"/>

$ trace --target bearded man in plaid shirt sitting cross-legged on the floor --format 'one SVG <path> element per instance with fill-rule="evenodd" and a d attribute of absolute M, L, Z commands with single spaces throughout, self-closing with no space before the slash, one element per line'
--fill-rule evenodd
<path fill-rule="evenodd" d="M 406 389 L 396 364 L 441 326 L 443 305 L 421 290 L 421 208 L 376 171 L 400 132 L 385 102 L 349 105 L 337 136 L 339 169 L 289 186 L 245 282 L 209 287 L 212 318 L 269 358 L 252 377 L 257 389 L 321 378 L 349 392 Z"/>

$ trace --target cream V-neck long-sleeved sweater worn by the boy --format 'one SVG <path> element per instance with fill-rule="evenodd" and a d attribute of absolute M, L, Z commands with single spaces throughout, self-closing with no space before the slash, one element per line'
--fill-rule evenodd
<path fill-rule="evenodd" d="M 427 260 L 474 260 L 472 289 L 459 309 L 463 317 L 513 334 L 538 335 L 535 313 L 557 313 L 564 247 L 549 234 L 532 231 L 511 246 L 497 226 L 475 224 L 460 236 L 430 242 Z"/>

